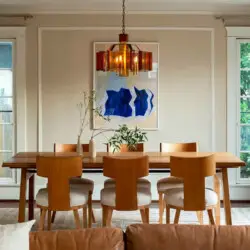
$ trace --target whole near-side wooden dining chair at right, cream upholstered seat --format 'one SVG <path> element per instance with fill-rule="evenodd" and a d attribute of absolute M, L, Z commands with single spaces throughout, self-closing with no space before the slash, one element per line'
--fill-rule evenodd
<path fill-rule="evenodd" d="M 164 194 L 166 203 L 166 223 L 170 223 L 170 208 L 176 209 L 174 223 L 178 224 L 181 210 L 204 211 L 211 225 L 215 225 L 213 208 L 218 196 L 215 191 L 205 187 L 205 178 L 216 174 L 214 155 L 208 156 L 170 156 L 171 174 L 183 180 L 183 187 L 169 189 Z"/>

